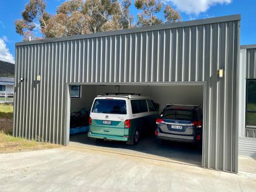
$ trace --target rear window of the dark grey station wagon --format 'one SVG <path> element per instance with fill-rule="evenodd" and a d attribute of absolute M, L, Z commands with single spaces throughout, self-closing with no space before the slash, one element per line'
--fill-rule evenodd
<path fill-rule="evenodd" d="M 175 109 L 164 110 L 161 117 L 165 119 L 178 120 L 195 120 L 197 118 L 196 111 Z"/>

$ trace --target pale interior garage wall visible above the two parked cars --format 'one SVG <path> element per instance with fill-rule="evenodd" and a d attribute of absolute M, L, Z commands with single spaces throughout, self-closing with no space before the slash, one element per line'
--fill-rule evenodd
<path fill-rule="evenodd" d="M 119 87 L 119 88 L 118 88 Z M 80 111 L 81 108 L 91 109 L 97 95 L 112 93 L 140 93 L 159 103 L 159 112 L 166 103 L 200 104 L 203 109 L 204 88 L 200 85 L 165 85 L 165 86 L 100 86 L 82 85 L 81 98 L 71 98 L 70 111 Z"/>

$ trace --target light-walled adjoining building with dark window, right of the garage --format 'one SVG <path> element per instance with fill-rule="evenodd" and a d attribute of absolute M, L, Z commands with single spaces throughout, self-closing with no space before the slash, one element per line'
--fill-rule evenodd
<path fill-rule="evenodd" d="M 239 154 L 256 157 L 256 45 L 240 50 Z"/>

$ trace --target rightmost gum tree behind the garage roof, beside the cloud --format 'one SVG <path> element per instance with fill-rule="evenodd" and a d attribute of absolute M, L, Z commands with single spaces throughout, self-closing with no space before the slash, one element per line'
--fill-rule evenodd
<path fill-rule="evenodd" d="M 164 8 L 163 13 L 165 20 L 158 18 L 157 14 L 162 11 L 163 6 L 164 3 L 161 0 L 136 0 L 135 7 L 138 10 L 141 10 L 141 12 L 138 13 L 137 25 L 153 26 L 162 23 L 180 22 L 180 13 L 170 5 L 167 5 Z"/>

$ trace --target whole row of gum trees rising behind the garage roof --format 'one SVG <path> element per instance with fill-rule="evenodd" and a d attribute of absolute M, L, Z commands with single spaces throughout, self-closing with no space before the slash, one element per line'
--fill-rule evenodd
<path fill-rule="evenodd" d="M 132 0 L 68 0 L 57 7 L 56 14 L 50 15 L 46 12 L 45 0 L 29 0 L 22 12 L 23 18 L 15 20 L 16 32 L 28 40 L 39 30 L 43 38 L 53 38 L 181 20 L 179 12 L 170 5 L 165 6 L 162 0 L 136 0 L 135 6 L 141 12 L 134 25 L 131 5 Z M 162 18 L 158 18 L 161 13 Z"/>

